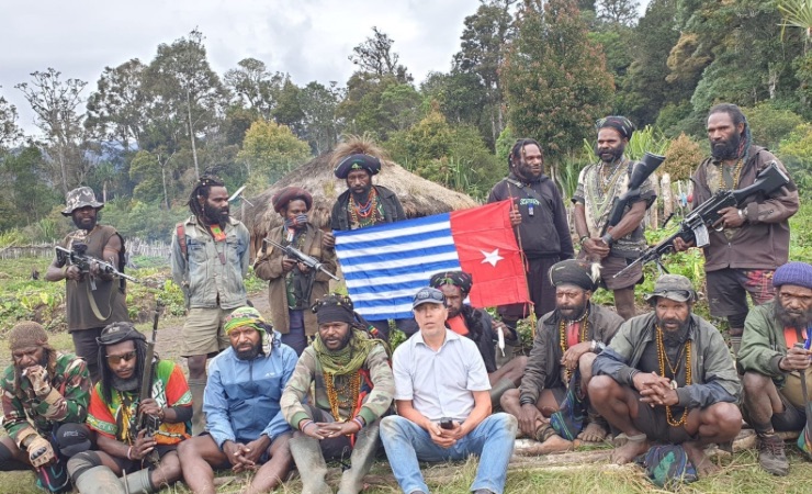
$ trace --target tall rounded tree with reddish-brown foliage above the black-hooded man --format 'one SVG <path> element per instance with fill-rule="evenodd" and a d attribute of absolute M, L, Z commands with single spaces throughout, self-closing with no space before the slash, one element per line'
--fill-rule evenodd
<path fill-rule="evenodd" d="M 575 0 L 527 0 L 503 66 L 508 120 L 561 155 L 580 147 L 610 106 L 613 82 L 586 32 Z"/>

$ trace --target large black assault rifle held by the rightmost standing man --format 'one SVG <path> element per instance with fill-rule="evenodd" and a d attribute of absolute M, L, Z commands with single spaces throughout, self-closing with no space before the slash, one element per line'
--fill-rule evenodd
<path fill-rule="evenodd" d="M 708 227 L 715 228 L 717 223 L 722 218 L 719 211 L 725 207 L 737 207 L 745 199 L 756 193 L 762 193 L 764 195 L 770 194 L 772 191 L 780 189 L 787 183 L 789 183 L 789 178 L 778 168 L 775 161 L 772 161 L 767 168 L 758 173 L 756 181 L 752 186 L 740 190 L 718 191 L 709 200 L 699 204 L 679 223 L 679 229 L 677 233 L 646 249 L 646 251 L 635 259 L 634 262 L 614 274 L 614 278 L 618 278 L 636 265 L 651 261 L 656 262 L 663 271 L 668 272 L 668 270 L 663 266 L 661 258 L 674 250 L 674 240 L 677 237 L 685 242 L 696 242 L 697 247 L 704 247 L 710 243 Z M 720 232 L 721 229 L 722 228 L 718 228 Z"/>

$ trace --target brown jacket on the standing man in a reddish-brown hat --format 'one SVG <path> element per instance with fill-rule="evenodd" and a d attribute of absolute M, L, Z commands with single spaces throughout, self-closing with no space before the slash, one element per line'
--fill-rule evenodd
<path fill-rule="evenodd" d="M 284 227 L 271 231 L 268 238 L 282 244 L 282 232 Z M 302 251 L 315 257 L 325 265 L 325 269 L 336 272 L 336 250 L 323 249 L 322 240 L 324 232 L 307 224 L 304 246 Z M 273 328 L 282 334 L 290 333 L 291 319 L 287 313 L 287 289 L 285 287 L 285 272 L 282 270 L 282 251 L 266 244 L 259 251 L 257 261 L 253 263 L 253 272 L 262 280 L 268 280 L 268 302 L 271 305 L 271 322 Z M 313 283 L 313 292 L 308 305 L 323 297 L 329 291 L 330 277 L 322 271 L 316 272 Z M 304 325 L 307 336 L 315 335 L 318 330 L 316 314 L 313 311 L 304 311 Z"/>

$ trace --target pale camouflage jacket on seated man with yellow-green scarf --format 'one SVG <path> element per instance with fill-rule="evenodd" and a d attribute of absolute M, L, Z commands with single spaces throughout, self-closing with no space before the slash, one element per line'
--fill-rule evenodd
<path fill-rule="evenodd" d="M 370 351 L 360 370 L 362 375 L 359 391 L 363 404 L 357 412 L 349 409 L 347 406 L 341 406 L 339 408 L 340 417 L 334 417 L 338 422 L 360 416 L 366 424 L 371 424 L 388 412 L 392 406 L 392 398 L 395 395 L 395 378 L 392 374 L 392 367 L 390 366 L 386 349 L 383 345 L 376 345 Z M 337 375 L 335 378 L 335 389 L 339 405 L 343 405 L 351 400 L 350 396 L 347 396 L 346 392 L 346 390 L 350 389 L 348 383 L 349 375 Z M 293 377 L 287 381 L 287 385 L 282 393 L 282 400 L 280 401 L 285 420 L 294 429 L 298 428 L 298 423 L 303 419 L 312 418 L 305 407 L 302 406 L 302 401 L 311 391 L 311 384 L 314 381 L 316 383 L 315 406 L 334 415 L 334 412 L 330 409 L 329 398 L 327 397 L 327 386 L 325 384 L 324 373 L 322 372 L 322 364 L 318 362 L 316 351 L 313 347 L 307 347 L 298 358 Z"/>

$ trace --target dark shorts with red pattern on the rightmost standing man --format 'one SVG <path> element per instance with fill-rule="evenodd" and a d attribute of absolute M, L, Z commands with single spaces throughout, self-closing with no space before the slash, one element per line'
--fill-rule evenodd
<path fill-rule="evenodd" d="M 747 293 L 753 303 L 762 305 L 772 300 L 771 269 L 725 268 L 707 273 L 708 304 L 711 315 L 726 317 L 747 314 Z"/>

